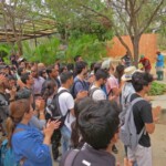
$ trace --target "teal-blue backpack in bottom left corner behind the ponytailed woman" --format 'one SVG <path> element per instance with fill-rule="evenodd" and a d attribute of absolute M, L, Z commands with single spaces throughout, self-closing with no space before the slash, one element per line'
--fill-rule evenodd
<path fill-rule="evenodd" d="M 14 160 L 14 154 L 8 146 L 8 139 L 4 139 L 1 144 L 1 166 L 19 166 Z"/>

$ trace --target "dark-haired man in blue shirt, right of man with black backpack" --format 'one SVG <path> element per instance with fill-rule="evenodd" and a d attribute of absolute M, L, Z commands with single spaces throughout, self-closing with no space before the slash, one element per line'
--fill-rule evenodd
<path fill-rule="evenodd" d="M 85 82 L 87 76 L 87 64 L 83 61 L 80 61 L 75 64 L 76 76 L 74 79 L 73 85 L 73 96 L 75 97 L 81 91 L 89 91 L 89 85 Z"/>

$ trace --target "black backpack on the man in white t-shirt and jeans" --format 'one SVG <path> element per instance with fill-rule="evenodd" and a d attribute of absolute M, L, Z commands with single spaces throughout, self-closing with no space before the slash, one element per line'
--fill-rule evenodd
<path fill-rule="evenodd" d="M 61 112 L 61 108 L 60 108 L 59 96 L 62 93 L 64 93 L 64 92 L 70 93 L 68 90 L 62 90 L 62 91 L 58 92 L 53 96 L 53 98 L 51 101 L 51 104 L 48 105 L 48 107 L 46 107 L 46 114 L 45 114 L 45 118 L 46 120 L 51 118 L 53 121 L 54 120 L 61 121 L 60 127 L 62 127 L 64 125 L 64 121 L 65 121 L 65 118 L 66 118 L 66 116 L 69 114 L 69 111 L 68 111 L 66 114 L 63 115 L 62 112 Z"/>

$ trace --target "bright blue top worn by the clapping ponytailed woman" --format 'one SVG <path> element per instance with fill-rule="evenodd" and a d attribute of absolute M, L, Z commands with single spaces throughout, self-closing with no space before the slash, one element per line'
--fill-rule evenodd
<path fill-rule="evenodd" d="M 23 131 L 13 134 L 11 139 L 15 162 L 25 158 L 23 166 L 52 166 L 50 148 L 43 144 L 43 134 L 24 124 L 18 124 L 17 128 Z"/>

